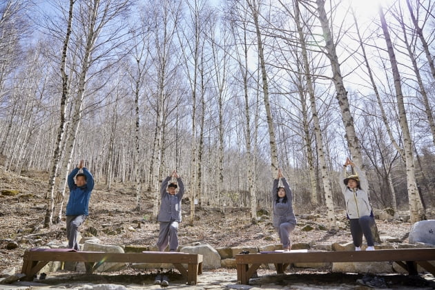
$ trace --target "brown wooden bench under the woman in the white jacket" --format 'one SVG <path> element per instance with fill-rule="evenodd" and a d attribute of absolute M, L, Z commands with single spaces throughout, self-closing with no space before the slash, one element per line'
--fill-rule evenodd
<path fill-rule="evenodd" d="M 276 272 L 284 273 L 291 263 L 297 262 L 396 262 L 409 274 L 417 273 L 418 264 L 435 276 L 435 267 L 428 262 L 433 260 L 435 248 L 329 252 L 296 250 L 235 255 L 239 284 L 248 284 L 261 264 L 275 264 Z"/>

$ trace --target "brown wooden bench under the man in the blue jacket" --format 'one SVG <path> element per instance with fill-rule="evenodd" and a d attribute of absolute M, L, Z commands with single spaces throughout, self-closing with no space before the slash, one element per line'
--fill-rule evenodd
<path fill-rule="evenodd" d="M 78 252 L 71 249 L 32 249 L 23 255 L 23 280 L 32 280 L 50 261 L 84 262 L 86 273 L 93 273 L 104 262 L 169 263 L 180 271 L 188 284 L 197 284 L 202 273 L 202 255 L 180 252 L 106 253 Z M 183 264 L 187 264 L 187 268 Z"/>

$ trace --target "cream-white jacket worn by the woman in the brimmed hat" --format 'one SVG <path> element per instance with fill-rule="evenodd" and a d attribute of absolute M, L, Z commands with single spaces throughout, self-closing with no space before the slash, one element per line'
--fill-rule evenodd
<path fill-rule="evenodd" d="M 347 177 L 346 168 L 343 169 L 340 180 L 342 193 L 345 195 L 347 218 L 361 218 L 364 215 L 371 215 L 371 206 L 367 195 L 369 192 L 369 184 L 367 179 L 361 174 L 361 169 L 358 166 L 354 168 L 356 174 L 358 174 L 361 189 L 349 189 L 349 187 L 343 183 L 343 180 Z"/>

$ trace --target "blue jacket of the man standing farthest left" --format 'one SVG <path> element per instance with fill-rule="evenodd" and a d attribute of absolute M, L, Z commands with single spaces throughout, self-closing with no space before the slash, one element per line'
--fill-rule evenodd
<path fill-rule="evenodd" d="M 86 176 L 86 184 L 77 186 L 74 182 L 74 177 L 79 173 L 79 168 L 74 168 L 68 175 L 68 187 L 70 189 L 70 198 L 66 205 L 66 215 L 88 215 L 88 205 L 90 193 L 94 188 L 94 177 L 88 169 L 82 168 Z"/>

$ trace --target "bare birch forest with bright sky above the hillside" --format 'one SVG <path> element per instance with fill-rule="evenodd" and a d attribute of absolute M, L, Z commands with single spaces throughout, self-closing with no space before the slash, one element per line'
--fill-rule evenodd
<path fill-rule="evenodd" d="M 45 171 L 45 226 L 79 160 L 143 210 L 174 169 L 195 206 L 344 206 L 346 157 L 375 208 L 434 206 L 435 1 L 5 0 L 0 156 Z M 359 4 L 358 4 L 359 3 Z M 382 5 L 378 5 L 381 3 Z M 1 184 L 0 184 L 1 187 Z"/>

